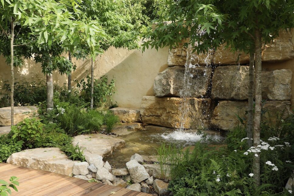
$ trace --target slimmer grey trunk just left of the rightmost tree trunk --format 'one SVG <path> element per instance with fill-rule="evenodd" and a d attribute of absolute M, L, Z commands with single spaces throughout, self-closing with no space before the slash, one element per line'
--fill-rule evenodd
<path fill-rule="evenodd" d="M 248 122 L 247 122 L 247 137 L 248 146 L 252 146 L 252 129 L 253 129 L 253 88 L 254 88 L 254 50 L 250 52 L 249 62 L 249 86 L 248 86 Z"/>

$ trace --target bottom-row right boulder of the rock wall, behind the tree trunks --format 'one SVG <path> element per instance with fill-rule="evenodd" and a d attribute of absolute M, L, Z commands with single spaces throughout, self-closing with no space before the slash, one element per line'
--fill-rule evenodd
<path fill-rule="evenodd" d="M 290 101 L 266 101 L 263 109 L 267 109 L 268 112 L 265 117 L 271 117 L 275 119 L 277 112 L 284 112 L 284 117 L 291 113 Z M 239 115 L 242 119 L 246 119 L 245 111 L 247 111 L 247 101 L 220 101 L 216 108 L 213 110 L 213 117 L 211 124 L 222 130 L 231 130 L 238 125 Z"/>

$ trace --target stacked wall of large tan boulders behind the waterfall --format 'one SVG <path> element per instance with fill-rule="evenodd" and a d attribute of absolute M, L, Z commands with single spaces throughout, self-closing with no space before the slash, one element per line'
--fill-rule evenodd
<path fill-rule="evenodd" d="M 294 59 L 293 41 L 290 32 L 282 31 L 273 43 L 262 48 L 262 61 L 275 62 Z M 183 43 L 185 40 L 183 41 Z M 174 47 L 169 51 L 168 68 L 155 77 L 153 90 L 155 96 L 145 96 L 141 104 L 143 123 L 179 128 L 181 90 L 184 85 L 187 49 Z M 239 59 L 238 59 L 239 56 Z M 199 127 L 230 130 L 238 125 L 236 115 L 246 119 L 249 56 L 240 52 L 224 50 L 224 46 L 209 54 L 194 54 L 192 64 L 197 65 L 192 74 L 191 98 L 188 100 L 189 112 L 185 117 L 186 129 Z M 238 60 L 238 61 L 237 61 Z M 274 117 L 284 111 L 291 113 L 290 99 L 292 70 L 262 70 L 262 98 L 267 100 L 264 109 L 267 116 Z M 274 119 L 274 118 L 273 118 Z"/>

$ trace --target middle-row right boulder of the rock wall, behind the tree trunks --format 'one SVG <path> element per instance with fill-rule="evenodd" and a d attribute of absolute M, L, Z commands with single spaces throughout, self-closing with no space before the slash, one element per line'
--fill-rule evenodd
<path fill-rule="evenodd" d="M 267 100 L 290 100 L 291 70 L 263 70 L 262 98 Z M 249 66 L 221 66 L 214 70 L 212 97 L 215 99 L 248 99 Z"/>

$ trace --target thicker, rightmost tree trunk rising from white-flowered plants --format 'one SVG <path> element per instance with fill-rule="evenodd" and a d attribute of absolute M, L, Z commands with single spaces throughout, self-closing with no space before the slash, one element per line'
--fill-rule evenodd
<path fill-rule="evenodd" d="M 261 119 L 261 33 L 255 29 L 255 108 L 253 122 L 253 146 L 260 144 L 260 119 Z M 255 184 L 260 184 L 260 153 L 256 153 L 253 160 L 253 174 Z"/>

